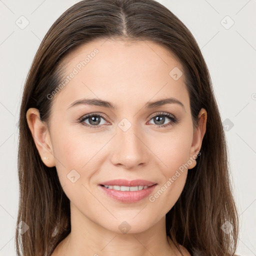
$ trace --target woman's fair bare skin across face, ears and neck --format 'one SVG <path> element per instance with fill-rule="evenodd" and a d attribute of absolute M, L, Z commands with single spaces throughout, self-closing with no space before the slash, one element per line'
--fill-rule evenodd
<path fill-rule="evenodd" d="M 116 201 L 97 185 L 109 179 L 146 179 L 157 183 L 154 194 L 169 177 L 198 153 L 206 130 L 205 109 L 199 125 L 192 126 L 184 75 L 174 80 L 169 72 L 182 66 L 167 49 L 150 41 L 96 40 L 81 45 L 63 60 L 66 75 L 97 48 L 99 52 L 54 96 L 49 123 L 29 108 L 27 122 L 38 152 L 47 166 L 56 166 L 63 190 L 70 199 L 71 233 L 53 251 L 58 255 L 180 255 L 166 238 L 165 214 L 177 201 L 185 184 L 184 169 L 155 201 L 148 197 L 134 203 Z M 68 106 L 77 99 L 99 98 L 116 105 Z M 177 104 L 145 108 L 147 101 L 174 97 Z M 50 99 L 49 99 L 50 100 Z M 153 116 L 170 113 L 178 123 L 157 128 Z M 88 113 L 102 113 L 100 127 L 89 128 L 77 120 Z M 158 114 L 159 115 L 159 114 Z M 123 131 L 118 123 L 131 126 Z M 93 125 L 87 118 L 85 123 Z M 171 120 L 165 117 L 164 124 Z M 162 124 L 162 123 L 161 123 Z M 95 125 L 95 124 L 94 124 Z M 127 124 L 125 124 L 127 125 Z M 43 159 L 48 157 L 48 160 Z M 75 169 L 80 178 L 72 183 L 67 174 Z M 126 221 L 130 230 L 118 226 Z M 190 255 L 180 245 L 184 255 Z"/>

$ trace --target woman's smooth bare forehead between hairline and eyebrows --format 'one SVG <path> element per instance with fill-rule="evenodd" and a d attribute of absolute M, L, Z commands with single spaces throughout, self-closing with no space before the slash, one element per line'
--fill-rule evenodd
<path fill-rule="evenodd" d="M 56 97 L 62 104 L 82 97 L 106 99 L 117 107 L 166 96 L 184 105 L 189 101 L 182 66 L 152 41 L 98 39 L 80 45 L 62 63 L 66 83 Z M 180 77 L 174 79 L 173 72 Z"/>

